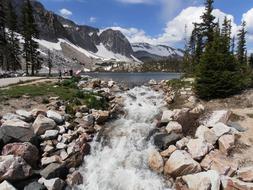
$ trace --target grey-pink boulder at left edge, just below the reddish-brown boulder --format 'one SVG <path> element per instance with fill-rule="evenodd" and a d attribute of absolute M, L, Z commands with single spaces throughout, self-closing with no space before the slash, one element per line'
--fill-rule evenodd
<path fill-rule="evenodd" d="M 23 180 L 30 177 L 32 168 L 25 160 L 18 156 L 0 156 L 0 181 Z"/>

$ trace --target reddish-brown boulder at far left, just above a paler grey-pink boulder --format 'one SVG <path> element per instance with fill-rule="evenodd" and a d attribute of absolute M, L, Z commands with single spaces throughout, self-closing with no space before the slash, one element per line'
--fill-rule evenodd
<path fill-rule="evenodd" d="M 39 160 L 38 149 L 29 142 L 7 144 L 2 150 L 2 155 L 20 156 L 33 167 L 37 166 Z"/>

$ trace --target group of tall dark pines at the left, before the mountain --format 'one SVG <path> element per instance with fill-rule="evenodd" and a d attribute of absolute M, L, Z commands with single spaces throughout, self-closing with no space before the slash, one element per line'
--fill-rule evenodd
<path fill-rule="evenodd" d="M 26 74 L 35 75 L 41 68 L 38 43 L 34 40 L 36 38 L 39 38 L 39 32 L 30 0 L 24 1 L 20 23 L 11 1 L 1 0 L 0 68 L 5 71 L 19 70 L 21 69 L 20 59 L 23 57 Z M 21 45 L 20 42 L 22 42 Z"/>

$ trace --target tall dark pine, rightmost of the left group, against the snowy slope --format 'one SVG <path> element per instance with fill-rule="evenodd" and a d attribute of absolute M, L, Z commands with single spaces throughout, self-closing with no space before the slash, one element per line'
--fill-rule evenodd
<path fill-rule="evenodd" d="M 26 60 L 26 73 L 29 74 L 29 67 L 31 67 L 31 75 L 34 75 L 40 69 L 40 58 L 38 43 L 34 38 L 39 37 L 39 32 L 33 16 L 33 8 L 30 0 L 26 0 L 22 9 L 22 34 L 24 37 L 24 58 Z"/>

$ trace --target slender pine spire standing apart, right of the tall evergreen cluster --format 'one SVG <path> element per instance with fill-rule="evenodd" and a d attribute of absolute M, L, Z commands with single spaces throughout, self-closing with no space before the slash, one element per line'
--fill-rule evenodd
<path fill-rule="evenodd" d="M 237 35 L 238 44 L 237 44 L 237 59 L 239 64 L 246 65 L 245 52 L 246 52 L 246 22 L 243 21 L 241 25 L 241 29 Z"/>

